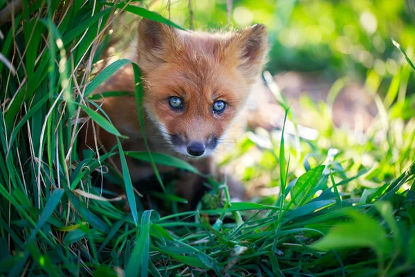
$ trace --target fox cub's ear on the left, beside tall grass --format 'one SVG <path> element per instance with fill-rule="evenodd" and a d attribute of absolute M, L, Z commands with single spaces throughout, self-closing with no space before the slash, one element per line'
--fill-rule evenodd
<path fill-rule="evenodd" d="M 150 19 L 142 19 L 138 25 L 138 65 L 144 72 L 165 62 L 179 46 L 178 32 L 173 27 Z"/>

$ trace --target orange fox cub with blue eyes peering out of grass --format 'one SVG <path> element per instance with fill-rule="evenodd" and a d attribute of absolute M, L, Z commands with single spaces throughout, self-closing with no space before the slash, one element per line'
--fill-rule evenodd
<path fill-rule="evenodd" d="M 143 19 L 135 62 L 144 81 L 145 129 L 151 151 L 179 157 L 214 175 L 215 151 L 243 109 L 267 51 L 266 28 L 261 24 L 230 33 L 201 33 Z M 133 88 L 133 73 L 127 67 L 98 91 L 133 92 Z M 146 151 L 133 97 L 104 98 L 102 109 L 118 131 L 129 136 L 122 143 L 124 151 Z M 93 133 L 89 123 L 84 147 L 95 149 Z M 115 136 L 98 125 L 95 134 L 98 146 L 105 150 L 117 143 Z M 121 168 L 119 158 L 113 162 Z M 133 182 L 154 175 L 149 164 L 129 157 L 127 163 Z M 172 168 L 158 166 L 158 170 Z M 201 186 L 196 175 L 181 173 L 176 193 L 194 203 Z"/>

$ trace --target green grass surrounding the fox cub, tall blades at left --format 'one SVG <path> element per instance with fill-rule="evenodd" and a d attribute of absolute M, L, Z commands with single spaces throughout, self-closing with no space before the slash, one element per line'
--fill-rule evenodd
<path fill-rule="evenodd" d="M 315 139 L 304 139 L 295 123 L 300 111 L 288 109 L 273 86 L 297 132 L 248 132 L 223 164 L 239 163 L 239 177 L 248 184 L 267 177 L 277 194 L 231 203 L 226 185 L 210 179 L 212 190 L 199 210 L 179 212 L 183 199 L 164 184 L 165 193 L 153 195 L 171 210 L 161 217 L 142 208 L 123 166 L 115 178 L 127 190 L 131 213 L 124 213 L 122 201 L 102 197 L 91 175 L 111 168 L 107 161 L 116 154 L 200 174 L 163 154 L 123 152 L 121 143 L 107 154 L 77 157 L 82 112 L 123 139 L 89 98 L 129 62 L 102 70 L 99 57 L 111 21 L 124 10 L 172 24 L 131 4 L 24 0 L 22 10 L 1 26 L 1 55 L 10 61 L 0 62 L 1 275 L 412 274 L 415 98 L 406 95 L 409 65 L 401 66 L 384 99 L 374 92 L 378 116 L 365 132 L 333 126 L 333 87 L 329 104 L 302 99 L 301 112 L 313 116 L 318 131 Z M 372 72 L 367 86 L 376 91 L 380 81 Z M 138 107 L 140 93 L 138 85 Z M 254 162 L 243 163 L 252 152 L 259 153 Z"/>

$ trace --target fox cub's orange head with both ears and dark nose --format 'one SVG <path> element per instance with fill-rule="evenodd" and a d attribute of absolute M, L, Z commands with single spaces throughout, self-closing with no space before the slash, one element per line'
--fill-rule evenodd
<path fill-rule="evenodd" d="M 137 45 L 149 118 L 183 157 L 212 154 L 264 66 L 265 26 L 200 33 L 143 19 Z"/>

